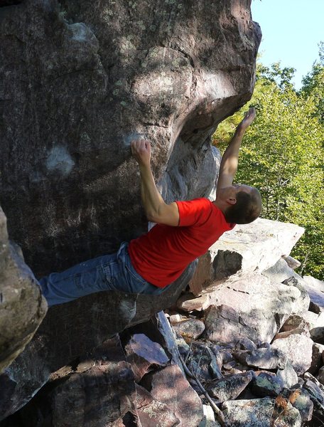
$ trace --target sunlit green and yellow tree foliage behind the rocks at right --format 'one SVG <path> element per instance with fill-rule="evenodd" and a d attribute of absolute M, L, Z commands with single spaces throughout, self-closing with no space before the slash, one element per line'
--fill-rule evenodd
<path fill-rule="evenodd" d="M 293 71 L 279 63 L 257 66 L 251 101 L 257 117 L 244 136 L 236 179 L 260 189 L 261 216 L 305 228 L 293 256 L 303 263 L 303 274 L 323 279 L 323 62 L 313 64 L 299 92 Z M 240 120 L 237 112 L 222 122 L 214 137 L 220 149 Z"/>

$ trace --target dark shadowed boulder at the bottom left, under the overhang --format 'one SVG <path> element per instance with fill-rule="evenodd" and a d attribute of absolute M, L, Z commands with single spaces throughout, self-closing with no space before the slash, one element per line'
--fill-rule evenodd
<path fill-rule="evenodd" d="M 121 422 L 127 413 L 136 413 L 131 367 L 105 362 L 51 381 L 21 416 L 33 427 L 97 427 Z"/>

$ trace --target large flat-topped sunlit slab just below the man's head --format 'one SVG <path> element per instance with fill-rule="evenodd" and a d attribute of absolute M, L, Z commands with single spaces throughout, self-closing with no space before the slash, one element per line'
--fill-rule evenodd
<path fill-rule="evenodd" d="M 276 264 L 281 255 L 288 255 L 303 231 L 291 223 L 262 218 L 248 225 L 235 226 L 199 258 L 190 282 L 191 292 L 200 295 L 209 286 L 225 281 L 231 283 L 234 275 L 261 273 Z"/>

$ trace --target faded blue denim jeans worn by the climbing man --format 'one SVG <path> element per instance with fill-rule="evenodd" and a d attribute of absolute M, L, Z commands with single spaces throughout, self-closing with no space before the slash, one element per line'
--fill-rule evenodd
<path fill-rule="evenodd" d="M 121 243 L 119 251 L 75 265 L 62 273 L 51 273 L 39 280 L 48 306 L 69 302 L 76 298 L 104 290 L 159 295 L 166 288 L 158 288 L 142 278 L 127 251 L 128 243 Z"/>

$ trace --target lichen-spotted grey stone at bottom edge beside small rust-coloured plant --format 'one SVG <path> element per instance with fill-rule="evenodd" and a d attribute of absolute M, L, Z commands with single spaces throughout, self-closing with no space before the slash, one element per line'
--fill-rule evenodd
<path fill-rule="evenodd" d="M 222 404 L 222 411 L 229 426 L 235 427 L 268 427 L 275 421 L 279 427 L 301 427 L 301 415 L 288 402 L 286 413 L 276 416 L 274 399 L 244 399 L 227 401 Z"/>

